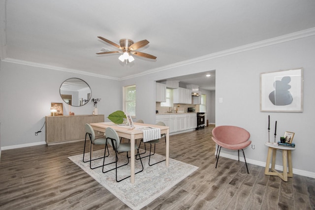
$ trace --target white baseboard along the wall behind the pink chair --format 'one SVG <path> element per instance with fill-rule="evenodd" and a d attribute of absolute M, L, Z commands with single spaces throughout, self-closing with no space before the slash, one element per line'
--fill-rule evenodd
<path fill-rule="evenodd" d="M 217 154 L 217 150 L 215 152 L 215 155 L 216 154 Z M 220 152 L 220 157 L 226 157 L 226 158 L 229 158 L 229 159 L 238 160 L 238 156 L 227 154 L 227 153 L 223 153 L 222 151 Z M 241 157 L 241 155 L 240 155 L 240 161 L 245 162 L 244 157 Z M 246 162 L 254 164 L 254 165 L 257 165 L 257 166 L 266 167 L 266 162 L 252 160 L 252 159 L 249 159 L 249 158 L 246 158 Z M 279 171 L 283 171 L 283 166 L 275 165 L 275 169 L 279 170 Z M 303 170 L 300 170 L 300 169 L 294 169 L 293 168 L 293 174 L 301 175 L 301 176 L 304 176 L 304 177 L 315 178 L 315 173 L 314 172 L 303 171 Z"/>

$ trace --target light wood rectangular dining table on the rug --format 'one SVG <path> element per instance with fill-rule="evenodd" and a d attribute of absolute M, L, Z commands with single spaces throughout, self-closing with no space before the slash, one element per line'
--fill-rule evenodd
<path fill-rule="evenodd" d="M 130 139 L 130 147 L 131 147 L 131 151 L 130 151 L 130 182 L 133 184 L 134 183 L 134 168 L 135 168 L 135 140 L 136 139 L 141 139 L 143 138 L 143 132 L 141 130 L 136 130 L 136 129 L 130 129 L 128 128 L 128 126 L 120 126 L 117 124 L 114 124 L 112 122 L 97 122 L 97 123 L 90 123 L 90 125 L 92 126 L 92 128 L 96 131 L 100 131 L 100 132 L 104 132 L 107 127 L 111 127 L 114 130 L 116 130 L 116 132 L 118 133 L 119 137 L 123 137 L 126 139 Z M 155 124 L 145 124 L 145 123 L 138 123 L 138 122 L 134 122 L 134 125 L 137 126 L 150 126 L 150 127 L 155 127 L 155 128 L 160 128 L 161 134 L 165 134 L 166 136 L 166 145 L 165 145 L 165 164 L 166 167 L 168 167 L 169 164 L 169 127 L 168 126 L 161 126 L 161 125 L 155 125 Z M 105 133 L 106 135 L 106 133 Z"/>

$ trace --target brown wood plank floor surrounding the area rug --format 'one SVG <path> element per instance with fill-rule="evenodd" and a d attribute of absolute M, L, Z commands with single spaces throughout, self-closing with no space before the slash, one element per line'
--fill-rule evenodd
<path fill-rule="evenodd" d="M 144 210 L 315 210 L 315 179 L 294 175 L 284 182 L 252 164 L 247 174 L 245 163 L 224 157 L 215 169 L 211 130 L 170 136 L 170 157 L 199 169 Z M 67 158 L 82 153 L 83 144 L 2 151 L 0 209 L 128 210 Z M 162 143 L 157 148 L 165 154 Z"/>

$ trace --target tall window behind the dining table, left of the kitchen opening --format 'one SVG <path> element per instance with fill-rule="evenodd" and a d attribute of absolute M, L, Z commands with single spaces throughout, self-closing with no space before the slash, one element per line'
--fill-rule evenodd
<path fill-rule="evenodd" d="M 136 86 L 124 87 L 124 104 L 123 111 L 132 117 L 136 116 Z"/>

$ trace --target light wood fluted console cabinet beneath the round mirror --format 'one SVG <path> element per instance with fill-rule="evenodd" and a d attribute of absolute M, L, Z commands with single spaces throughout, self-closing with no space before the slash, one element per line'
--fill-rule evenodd
<path fill-rule="evenodd" d="M 86 123 L 103 122 L 104 115 L 46 116 L 45 139 L 47 145 L 83 141 Z M 95 137 L 103 136 L 95 132 Z"/>

